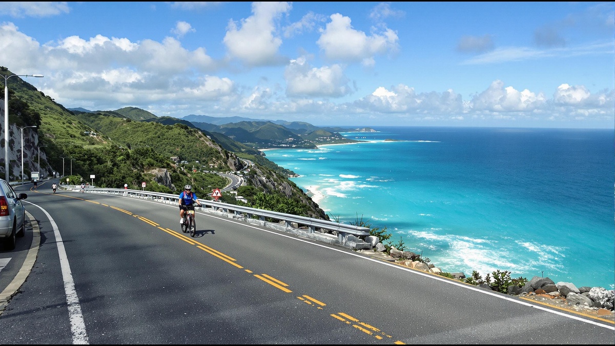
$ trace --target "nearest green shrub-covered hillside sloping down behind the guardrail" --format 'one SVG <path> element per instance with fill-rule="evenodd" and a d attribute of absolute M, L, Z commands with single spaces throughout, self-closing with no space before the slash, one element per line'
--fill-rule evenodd
<path fill-rule="evenodd" d="M 3 67 L 0 73 L 12 74 Z M 89 182 L 93 175 L 93 183 L 100 187 L 121 188 L 127 183 L 130 188 L 140 189 L 141 182 L 146 182 L 146 190 L 177 193 L 178 187 L 190 183 L 205 195 L 210 192 L 207 188 L 222 188 L 227 183 L 226 178 L 208 171 L 248 169 L 245 186 L 240 188 L 248 198 L 248 206 L 258 203 L 263 209 L 328 220 L 325 212 L 288 180 L 292 172 L 263 158 L 255 148 L 223 134 L 207 134 L 187 121 L 157 118 L 133 107 L 69 111 L 16 77 L 10 84 L 9 114 L 9 123 L 37 126 L 34 141 L 26 139 L 25 156 L 38 157 L 41 151 L 41 171 L 66 174 L 63 181 L 66 178 L 69 184 Z M 255 165 L 247 167 L 216 139 L 226 147 L 237 148 L 242 158 Z M 13 157 L 16 142 L 13 130 L 9 141 Z M 16 159 L 10 160 L 11 171 L 17 165 Z M 226 193 L 221 200 L 239 203 Z"/>

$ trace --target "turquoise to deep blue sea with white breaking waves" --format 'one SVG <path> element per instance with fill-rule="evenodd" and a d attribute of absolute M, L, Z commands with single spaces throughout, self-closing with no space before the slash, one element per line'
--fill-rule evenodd
<path fill-rule="evenodd" d="M 614 289 L 613 129 L 371 128 L 264 153 L 331 219 L 386 227 L 444 272 Z"/>

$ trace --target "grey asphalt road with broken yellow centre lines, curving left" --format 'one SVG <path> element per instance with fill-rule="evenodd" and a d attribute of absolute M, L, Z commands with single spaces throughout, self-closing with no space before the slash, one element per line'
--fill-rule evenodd
<path fill-rule="evenodd" d="M 608 321 L 342 247 L 203 212 L 190 238 L 176 206 L 50 186 L 16 188 L 33 219 L 0 252 L 0 344 L 615 341 Z"/>

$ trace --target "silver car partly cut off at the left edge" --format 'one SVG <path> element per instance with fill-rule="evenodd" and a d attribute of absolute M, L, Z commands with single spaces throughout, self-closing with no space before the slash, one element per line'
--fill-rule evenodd
<path fill-rule="evenodd" d="M 6 180 L 0 179 L 0 243 L 5 250 L 14 250 L 17 237 L 26 234 L 26 208 L 22 203 L 26 198 L 28 195 L 18 195 Z"/>

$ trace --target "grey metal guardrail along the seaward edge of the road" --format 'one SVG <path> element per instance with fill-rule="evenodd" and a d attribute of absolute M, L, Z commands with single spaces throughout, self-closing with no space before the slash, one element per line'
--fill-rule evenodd
<path fill-rule="evenodd" d="M 60 185 L 62 190 L 80 191 L 80 185 Z M 153 191 L 130 190 L 123 188 L 98 188 L 86 186 L 85 192 L 89 193 L 106 193 L 110 195 L 130 196 L 133 198 L 151 199 L 153 201 L 178 204 L 179 196 L 169 193 L 159 193 Z M 258 221 L 261 226 L 275 228 L 282 231 L 301 232 L 304 230 L 308 233 L 309 238 L 327 241 L 328 243 L 337 243 L 351 249 L 371 249 L 372 244 L 364 241 L 365 237 L 370 235 L 370 228 L 360 227 L 355 225 L 347 225 L 346 223 L 333 222 L 328 220 L 314 219 L 312 217 L 304 217 L 282 212 L 267 211 L 264 209 L 256 209 L 252 207 L 237 206 L 234 204 L 222 203 L 218 201 L 209 201 L 199 199 L 203 204 L 203 211 L 230 215 L 233 219 L 245 220 L 246 222 Z M 277 223 L 269 222 L 268 220 L 277 220 Z M 280 228 L 280 225 L 282 226 Z M 337 241 L 331 241 L 330 237 L 336 236 Z"/>

